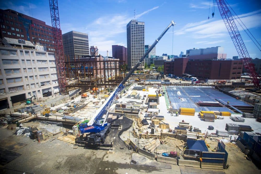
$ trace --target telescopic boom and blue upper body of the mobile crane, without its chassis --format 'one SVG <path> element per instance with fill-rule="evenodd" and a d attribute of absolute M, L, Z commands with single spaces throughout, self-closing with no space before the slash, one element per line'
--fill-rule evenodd
<path fill-rule="evenodd" d="M 103 105 L 96 111 L 96 114 L 91 118 L 91 120 L 87 123 L 87 127 L 80 128 L 81 132 L 100 132 L 104 129 L 104 121 L 101 123 L 101 118 L 103 114 L 108 111 L 112 102 L 116 99 L 118 94 L 124 88 L 124 83 L 129 79 L 132 73 L 138 68 L 141 62 L 145 59 L 145 57 L 150 53 L 150 51 L 156 46 L 159 40 L 164 36 L 164 34 L 169 30 L 171 26 L 175 26 L 175 22 L 171 21 L 168 27 L 161 33 L 161 35 L 155 40 L 155 42 L 151 45 L 151 47 L 146 51 L 146 53 L 141 57 L 141 59 L 137 62 L 137 64 L 131 69 L 131 71 L 127 74 L 127 76 L 122 80 L 122 82 L 116 87 L 116 89 L 110 94 L 107 100 L 103 103 Z M 108 114 L 108 113 L 107 113 Z M 106 120 L 105 120 L 106 121 Z"/>

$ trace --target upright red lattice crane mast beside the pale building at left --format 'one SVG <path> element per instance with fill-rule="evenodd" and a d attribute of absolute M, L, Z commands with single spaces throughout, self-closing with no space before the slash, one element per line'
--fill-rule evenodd
<path fill-rule="evenodd" d="M 49 0 L 49 3 L 50 3 L 50 11 L 51 11 L 52 30 L 54 33 L 55 62 L 56 62 L 58 84 L 59 84 L 60 92 L 62 94 L 66 94 L 66 74 L 64 68 L 63 39 L 62 39 L 62 30 L 60 27 L 58 2 L 57 0 Z"/>

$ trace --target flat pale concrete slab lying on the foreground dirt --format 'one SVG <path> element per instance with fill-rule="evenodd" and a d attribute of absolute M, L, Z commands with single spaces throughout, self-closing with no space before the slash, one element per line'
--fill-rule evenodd
<path fill-rule="evenodd" d="M 142 156 L 142 155 L 137 154 L 137 153 L 132 154 L 131 164 L 132 165 L 138 165 L 138 166 L 171 169 L 170 164 L 160 163 L 160 162 L 157 162 L 156 160 L 150 160 L 150 159 L 146 158 L 145 156 Z"/>

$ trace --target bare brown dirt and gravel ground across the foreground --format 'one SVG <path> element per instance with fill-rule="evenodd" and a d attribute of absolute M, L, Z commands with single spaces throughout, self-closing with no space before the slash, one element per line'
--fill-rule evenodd
<path fill-rule="evenodd" d="M 128 150 L 124 142 L 118 138 L 114 142 L 115 153 L 107 154 L 108 148 L 75 149 L 74 145 L 57 140 L 59 135 L 38 143 L 13 133 L 12 130 L 0 128 L 0 137 L 2 137 L 0 144 L 5 144 L 3 148 L 7 148 L 7 145 L 12 146 L 17 143 L 11 150 L 21 155 L 4 166 L 0 165 L 0 173 L 182 173 L 180 166 L 177 165 L 171 165 L 172 169 L 131 165 L 130 160 L 134 152 Z M 176 144 L 173 141 L 170 143 L 171 146 Z M 210 144 L 212 148 L 217 145 L 217 142 L 209 143 L 213 143 Z M 222 170 L 223 172 L 260 173 L 261 170 L 245 159 L 236 145 L 227 143 L 226 150 L 229 153 L 228 164 L 231 166 L 228 170 Z M 199 171 L 196 168 L 193 170 Z M 209 171 L 200 169 L 200 173 L 209 173 Z"/>

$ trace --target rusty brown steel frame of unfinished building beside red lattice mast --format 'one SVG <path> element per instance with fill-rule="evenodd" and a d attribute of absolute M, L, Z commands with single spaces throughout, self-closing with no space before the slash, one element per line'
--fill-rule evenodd
<path fill-rule="evenodd" d="M 69 81 L 73 80 L 73 78 L 76 80 L 74 84 L 66 86 L 67 90 L 70 90 L 70 88 L 81 88 L 82 92 L 85 92 L 86 89 L 94 87 L 101 88 L 105 86 L 106 88 L 106 86 L 118 86 L 125 77 L 124 69 L 124 74 L 121 73 L 121 65 L 124 65 L 124 62 L 119 60 L 101 60 L 101 58 L 86 57 L 80 59 L 78 57 L 76 59 L 74 57 L 74 61 L 70 61 L 65 56 L 66 78 Z M 115 71 L 114 75 L 113 71 Z M 108 78 L 109 76 L 111 79 Z"/>

